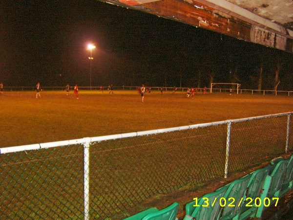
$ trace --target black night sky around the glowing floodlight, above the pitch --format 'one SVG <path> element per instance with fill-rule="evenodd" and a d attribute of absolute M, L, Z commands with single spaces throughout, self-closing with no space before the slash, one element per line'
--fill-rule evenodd
<path fill-rule="evenodd" d="M 0 81 L 4 86 L 92 85 L 209 87 L 230 83 L 256 88 L 260 61 L 264 89 L 293 90 L 293 54 L 247 43 L 184 23 L 97 0 L 2 0 Z"/>

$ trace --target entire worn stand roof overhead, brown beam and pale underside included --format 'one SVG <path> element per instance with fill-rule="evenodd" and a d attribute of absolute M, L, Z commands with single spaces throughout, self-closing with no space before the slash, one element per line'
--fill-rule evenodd
<path fill-rule="evenodd" d="M 293 52 L 293 0 L 101 0 Z"/>

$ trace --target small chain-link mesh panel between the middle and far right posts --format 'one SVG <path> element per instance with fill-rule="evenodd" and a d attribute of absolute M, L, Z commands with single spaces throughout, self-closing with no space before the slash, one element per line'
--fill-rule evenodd
<path fill-rule="evenodd" d="M 231 124 L 229 173 L 284 154 L 288 115 Z"/>

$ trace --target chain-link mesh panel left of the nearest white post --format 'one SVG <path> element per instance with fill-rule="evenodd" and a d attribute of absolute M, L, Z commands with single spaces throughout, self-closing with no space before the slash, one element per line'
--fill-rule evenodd
<path fill-rule="evenodd" d="M 83 219 L 83 147 L 1 154 L 1 219 Z"/>

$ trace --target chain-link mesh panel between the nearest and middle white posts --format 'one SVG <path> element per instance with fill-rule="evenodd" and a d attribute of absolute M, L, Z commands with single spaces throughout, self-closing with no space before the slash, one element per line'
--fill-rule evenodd
<path fill-rule="evenodd" d="M 223 176 L 225 130 L 218 125 L 92 143 L 90 215 L 105 219 Z"/>

